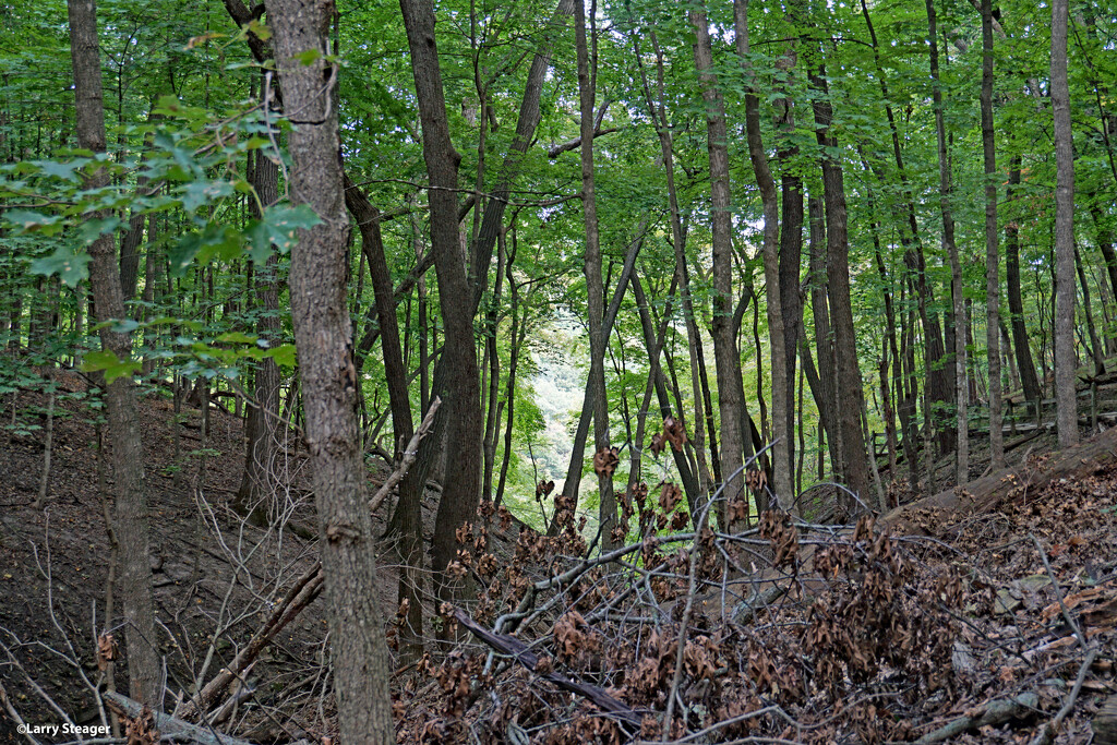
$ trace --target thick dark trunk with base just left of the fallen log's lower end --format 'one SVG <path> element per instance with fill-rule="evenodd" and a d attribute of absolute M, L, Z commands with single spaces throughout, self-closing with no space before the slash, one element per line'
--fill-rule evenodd
<path fill-rule="evenodd" d="M 831 155 L 838 140 L 830 133 L 833 112 L 827 89 L 825 69 L 820 66 L 811 84 L 820 96 L 814 101 L 815 136 L 824 149 L 822 155 L 822 192 L 827 214 L 827 299 L 834 333 L 834 370 L 837 381 L 837 428 L 841 434 L 841 456 L 846 483 L 859 496 L 869 493 L 869 472 L 865 455 L 861 410 L 865 394 L 857 361 L 857 335 L 849 292 L 849 238 L 847 229 L 846 184 L 841 163 Z M 851 505 L 846 505 L 851 507 Z"/>

